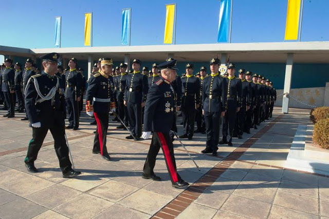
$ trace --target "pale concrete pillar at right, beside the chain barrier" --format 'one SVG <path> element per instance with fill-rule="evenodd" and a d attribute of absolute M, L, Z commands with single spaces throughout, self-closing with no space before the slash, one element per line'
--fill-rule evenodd
<path fill-rule="evenodd" d="M 286 74 L 284 77 L 284 88 L 283 93 L 290 93 L 291 87 L 291 77 L 293 76 L 293 64 L 294 64 L 294 54 L 287 53 L 287 63 L 286 63 Z M 289 112 L 289 98 L 287 95 L 283 95 L 282 99 L 282 113 L 288 114 Z"/>

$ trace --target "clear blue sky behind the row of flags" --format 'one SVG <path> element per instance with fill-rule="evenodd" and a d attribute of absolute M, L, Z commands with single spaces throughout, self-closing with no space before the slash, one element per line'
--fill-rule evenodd
<path fill-rule="evenodd" d="M 123 8 L 132 8 L 131 45 L 161 45 L 171 3 L 176 44 L 216 43 L 218 0 L 12 0 L 1 7 L 0 45 L 51 48 L 54 17 L 62 16 L 62 47 L 82 47 L 84 13 L 93 12 L 93 46 L 120 46 Z M 328 8 L 328 0 L 304 0 L 301 41 L 329 41 Z M 286 11 L 287 0 L 233 0 L 232 43 L 283 42 Z"/>

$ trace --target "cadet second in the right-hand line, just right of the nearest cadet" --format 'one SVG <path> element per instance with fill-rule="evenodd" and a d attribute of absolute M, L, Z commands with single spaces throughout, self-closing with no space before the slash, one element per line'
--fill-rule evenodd
<path fill-rule="evenodd" d="M 223 121 L 222 130 L 222 140 L 220 144 L 228 144 L 232 146 L 233 129 L 235 123 L 235 115 L 240 111 L 241 107 L 241 94 L 242 94 L 242 84 L 241 80 L 235 78 L 235 65 L 233 63 L 228 63 L 227 65 L 227 104 L 226 113 Z M 230 137 L 227 139 L 227 135 Z"/>

